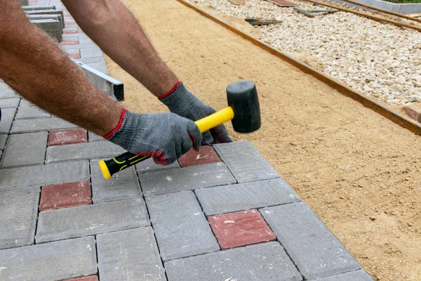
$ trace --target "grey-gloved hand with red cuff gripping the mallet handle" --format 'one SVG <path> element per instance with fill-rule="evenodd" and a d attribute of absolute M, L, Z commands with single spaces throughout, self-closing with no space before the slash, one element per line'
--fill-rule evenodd
<path fill-rule="evenodd" d="M 173 113 L 136 114 L 126 109 L 121 117 L 119 126 L 104 138 L 128 152 L 166 165 L 192 147 L 199 151 L 202 136 L 192 120 Z"/>

